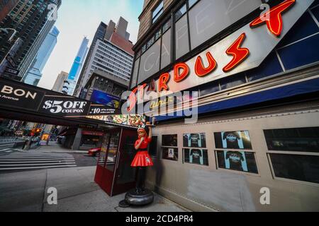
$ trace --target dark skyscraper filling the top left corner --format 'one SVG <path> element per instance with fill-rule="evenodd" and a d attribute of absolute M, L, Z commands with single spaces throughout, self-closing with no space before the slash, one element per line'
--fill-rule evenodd
<path fill-rule="evenodd" d="M 20 0 L 1 20 L 0 27 L 0 76 L 21 81 L 28 73 L 33 60 L 45 37 L 52 29 L 55 18 L 52 8 L 56 11 L 62 0 Z M 16 44 L 16 40 L 21 40 Z M 8 54 L 16 45 L 16 51 Z M 9 73 L 6 69 L 14 69 Z"/>

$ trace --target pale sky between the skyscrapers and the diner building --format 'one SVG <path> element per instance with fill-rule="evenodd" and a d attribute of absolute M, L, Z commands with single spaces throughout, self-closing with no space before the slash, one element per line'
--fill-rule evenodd
<path fill-rule="evenodd" d="M 143 0 L 62 0 L 55 23 L 60 34 L 38 86 L 52 89 L 61 71 L 69 73 L 83 38 L 89 39 L 90 46 L 101 21 L 117 23 L 120 16 L 128 20 L 130 40 L 135 44 L 142 4 Z"/>

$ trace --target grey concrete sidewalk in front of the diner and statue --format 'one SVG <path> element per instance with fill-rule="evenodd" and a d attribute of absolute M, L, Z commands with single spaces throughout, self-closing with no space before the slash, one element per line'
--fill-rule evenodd
<path fill-rule="evenodd" d="M 142 208 L 120 208 L 125 194 L 109 197 L 94 182 L 96 167 L 43 169 L 1 174 L 0 211 L 35 212 L 184 212 L 186 209 L 155 194 Z M 47 204 L 47 189 L 57 189 L 57 205 Z"/>

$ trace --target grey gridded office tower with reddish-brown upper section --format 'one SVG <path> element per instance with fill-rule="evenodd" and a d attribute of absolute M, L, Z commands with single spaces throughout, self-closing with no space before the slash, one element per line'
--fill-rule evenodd
<path fill-rule="evenodd" d="M 95 69 L 110 73 L 123 82 L 130 81 L 134 52 L 127 28 L 128 21 L 122 17 L 117 24 L 112 20 L 108 25 L 101 23 L 86 57 L 74 95 L 86 96 L 87 90 L 84 87 Z"/>

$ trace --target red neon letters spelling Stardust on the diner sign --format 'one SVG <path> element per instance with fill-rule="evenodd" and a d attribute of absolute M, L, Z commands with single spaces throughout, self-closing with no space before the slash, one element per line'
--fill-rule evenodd
<path fill-rule="evenodd" d="M 283 21 L 281 13 L 284 13 L 284 11 L 288 10 L 293 6 L 293 4 L 296 3 L 296 0 L 286 0 L 279 4 L 278 6 L 274 6 L 269 10 L 269 12 L 264 13 L 262 16 L 259 16 L 259 18 L 255 19 L 250 23 L 250 28 L 255 28 L 259 25 L 262 25 L 263 23 L 267 24 L 267 28 L 269 29 L 272 34 L 276 35 L 276 37 L 279 37 L 282 32 L 283 28 Z M 264 19 L 268 18 L 268 20 Z M 230 45 L 230 47 L 226 50 L 225 54 L 228 54 L 230 56 L 233 56 L 233 59 L 223 67 L 223 72 L 228 73 L 235 69 L 237 66 L 239 66 L 250 54 L 250 50 L 248 48 L 245 48 L 245 38 L 246 34 L 245 32 L 240 35 L 240 37 L 233 42 L 233 44 Z M 203 59 L 201 56 L 198 56 L 196 59 L 196 64 L 194 66 L 194 71 L 196 73 L 196 76 L 198 77 L 205 77 L 208 76 L 208 74 L 212 73 L 216 70 L 218 66 L 218 62 L 214 59 L 213 54 L 211 52 L 206 53 L 206 58 L 208 61 L 208 66 L 205 67 L 203 65 Z M 184 79 L 189 76 L 189 66 L 184 63 L 178 63 L 174 66 L 174 82 L 175 83 L 181 83 L 184 81 Z M 162 90 L 169 90 L 169 86 L 167 83 L 169 82 L 171 78 L 171 75 L 169 73 L 163 73 L 161 76 L 159 76 L 158 80 L 158 92 L 162 92 Z M 146 84 L 140 86 L 139 88 L 135 88 L 133 90 L 133 93 L 129 97 L 130 101 L 130 107 L 128 107 L 128 111 L 130 112 L 133 107 L 135 107 L 136 104 L 136 93 L 138 90 L 140 90 L 141 93 L 144 92 Z"/>

